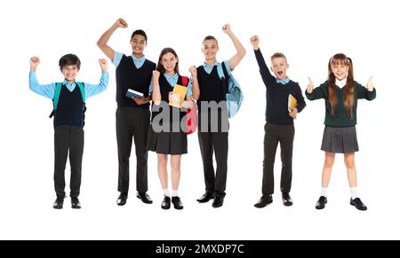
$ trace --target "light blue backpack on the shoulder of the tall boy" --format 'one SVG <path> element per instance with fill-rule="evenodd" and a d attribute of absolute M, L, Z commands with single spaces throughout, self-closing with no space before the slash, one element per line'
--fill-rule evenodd
<path fill-rule="evenodd" d="M 228 106 L 228 118 L 232 118 L 237 112 L 239 112 L 240 106 L 242 106 L 242 101 L 244 99 L 243 92 L 233 74 L 228 75 L 228 70 L 225 65 L 222 66 L 221 64 L 218 64 L 217 71 L 222 81 L 225 81 L 225 78 L 228 78 L 228 93 L 226 98 Z"/>

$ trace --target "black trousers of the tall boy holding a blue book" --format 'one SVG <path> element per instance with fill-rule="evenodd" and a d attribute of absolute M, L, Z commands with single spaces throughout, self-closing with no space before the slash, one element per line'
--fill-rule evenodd
<path fill-rule="evenodd" d="M 148 108 L 116 108 L 116 143 L 118 145 L 118 191 L 129 192 L 129 158 L 132 139 L 136 151 L 136 190 L 148 192 L 148 128 L 150 111 Z"/>

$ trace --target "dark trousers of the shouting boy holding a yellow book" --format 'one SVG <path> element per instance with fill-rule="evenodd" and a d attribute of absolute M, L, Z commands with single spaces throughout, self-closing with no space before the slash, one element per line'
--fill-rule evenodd
<path fill-rule="evenodd" d="M 281 146 L 281 192 L 291 192 L 292 188 L 292 152 L 294 126 L 266 123 L 264 137 L 264 162 L 262 194 L 274 193 L 274 163 L 278 143 Z"/>

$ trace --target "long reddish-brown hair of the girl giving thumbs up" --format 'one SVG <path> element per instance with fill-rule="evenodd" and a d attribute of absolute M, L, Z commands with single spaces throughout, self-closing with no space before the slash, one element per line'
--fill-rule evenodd
<path fill-rule="evenodd" d="M 353 116 L 354 107 L 354 74 L 353 74 L 353 61 L 345 54 L 336 54 L 328 64 L 328 82 L 329 82 L 329 103 L 331 104 L 331 114 L 334 115 L 335 107 L 338 105 L 338 96 L 336 88 L 336 78 L 332 71 L 332 66 L 344 65 L 348 66 L 348 79 L 344 90 L 344 104 L 345 110 L 349 117 Z"/>

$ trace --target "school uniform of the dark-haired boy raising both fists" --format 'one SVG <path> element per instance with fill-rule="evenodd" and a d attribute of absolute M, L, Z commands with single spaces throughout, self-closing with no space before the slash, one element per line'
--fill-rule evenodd
<path fill-rule="evenodd" d="M 102 73 L 99 84 L 84 83 L 85 98 L 107 89 L 108 73 Z M 41 85 L 36 72 L 29 73 L 29 88 L 45 98 L 54 99 L 56 83 Z M 68 159 L 71 166 L 70 197 L 78 197 L 82 178 L 84 154 L 85 104 L 76 82 L 62 82 L 59 102 L 54 113 L 54 188 L 57 197 L 65 197 L 65 168 Z"/>

